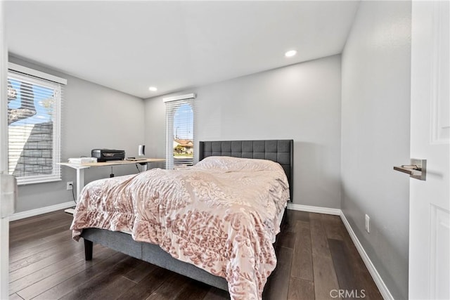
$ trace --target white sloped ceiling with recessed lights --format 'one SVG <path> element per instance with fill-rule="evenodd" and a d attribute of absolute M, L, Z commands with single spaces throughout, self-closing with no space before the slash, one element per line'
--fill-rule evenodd
<path fill-rule="evenodd" d="M 358 3 L 4 2 L 13 56 L 139 98 L 341 53 Z"/>

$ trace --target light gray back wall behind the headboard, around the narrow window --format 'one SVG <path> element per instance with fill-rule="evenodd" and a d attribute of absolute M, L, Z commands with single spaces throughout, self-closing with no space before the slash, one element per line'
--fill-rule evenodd
<path fill-rule="evenodd" d="M 198 141 L 294 139 L 296 204 L 340 207 L 340 56 L 189 89 Z M 148 156 L 165 155 L 163 97 L 145 101 Z"/>

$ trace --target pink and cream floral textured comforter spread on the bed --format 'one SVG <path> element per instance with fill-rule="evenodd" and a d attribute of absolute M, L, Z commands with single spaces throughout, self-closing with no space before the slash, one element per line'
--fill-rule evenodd
<path fill-rule="evenodd" d="M 174 258 L 226 278 L 231 299 L 261 299 L 276 266 L 272 242 L 289 197 L 279 164 L 207 157 L 184 170 L 151 169 L 86 185 L 71 226 L 124 230 Z"/>

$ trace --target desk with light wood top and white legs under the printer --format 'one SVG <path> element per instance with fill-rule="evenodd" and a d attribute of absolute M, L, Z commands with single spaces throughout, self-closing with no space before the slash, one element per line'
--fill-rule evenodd
<path fill-rule="evenodd" d="M 68 162 L 60 162 L 61 166 L 67 166 L 72 169 L 77 170 L 77 201 L 79 199 L 79 194 L 82 192 L 84 188 L 84 169 L 89 168 L 98 168 L 98 167 L 117 167 L 124 166 L 127 164 L 143 164 L 150 162 L 165 162 L 163 158 L 146 158 L 139 160 L 112 160 L 110 162 L 91 162 L 88 164 L 70 164 Z"/>

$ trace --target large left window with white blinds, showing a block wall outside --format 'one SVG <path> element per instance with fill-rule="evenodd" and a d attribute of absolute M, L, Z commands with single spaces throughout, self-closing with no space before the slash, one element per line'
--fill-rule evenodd
<path fill-rule="evenodd" d="M 60 107 L 66 82 L 9 64 L 8 174 L 19 185 L 61 180 Z"/>

